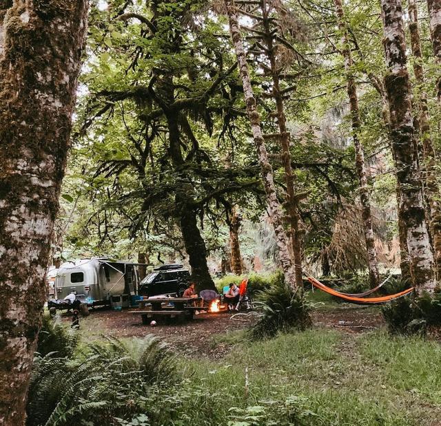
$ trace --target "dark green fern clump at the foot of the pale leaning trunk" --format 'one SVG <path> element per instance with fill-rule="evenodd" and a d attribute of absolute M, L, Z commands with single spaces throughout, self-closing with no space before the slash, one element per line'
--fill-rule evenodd
<path fill-rule="evenodd" d="M 282 275 L 271 287 L 260 290 L 256 297 L 260 319 L 250 329 L 254 339 L 272 337 L 292 329 L 305 330 L 311 326 L 311 305 L 303 290 L 293 290 L 285 284 Z"/>

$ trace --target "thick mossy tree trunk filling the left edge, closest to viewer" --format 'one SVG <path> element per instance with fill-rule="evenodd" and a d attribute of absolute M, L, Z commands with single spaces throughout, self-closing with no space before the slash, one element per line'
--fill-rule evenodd
<path fill-rule="evenodd" d="M 2 425 L 25 423 L 87 11 L 86 0 L 0 2 Z"/>

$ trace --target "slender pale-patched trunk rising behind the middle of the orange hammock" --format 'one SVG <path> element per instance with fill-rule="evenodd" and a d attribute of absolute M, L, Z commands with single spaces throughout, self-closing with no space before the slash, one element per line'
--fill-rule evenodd
<path fill-rule="evenodd" d="M 341 0 L 334 0 L 338 19 L 338 29 L 342 34 L 342 56 L 345 58 L 345 72 L 347 74 L 347 95 L 349 97 L 349 108 L 351 110 L 352 138 L 356 151 L 356 170 L 360 181 L 360 204 L 362 209 L 363 230 L 365 231 L 367 264 L 369 268 L 369 281 L 371 288 L 380 282 L 378 273 L 377 251 L 373 239 L 371 202 L 369 200 L 369 186 L 367 184 L 367 172 L 365 163 L 365 152 L 358 138 L 360 134 L 360 111 L 358 110 L 358 96 L 355 78 L 353 78 L 351 67 L 353 65 L 351 48 L 347 40 L 347 27 L 345 14 Z"/>

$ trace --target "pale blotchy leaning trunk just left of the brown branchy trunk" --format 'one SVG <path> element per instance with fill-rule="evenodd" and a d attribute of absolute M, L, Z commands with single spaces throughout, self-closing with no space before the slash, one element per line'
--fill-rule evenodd
<path fill-rule="evenodd" d="M 260 116 L 257 111 L 256 99 L 254 98 L 254 93 L 249 78 L 247 58 L 245 55 L 245 50 L 243 48 L 238 18 L 234 10 L 234 4 L 232 1 L 225 0 L 225 6 L 227 7 L 229 31 L 232 36 L 234 51 L 236 52 L 236 57 L 238 60 L 240 77 L 242 78 L 247 114 L 251 122 L 252 134 L 258 154 L 258 162 L 260 164 L 263 184 L 267 196 L 269 215 L 274 226 L 274 233 L 276 234 L 280 264 L 282 265 L 283 273 L 285 275 L 285 281 L 287 282 L 287 284 L 289 284 L 293 288 L 297 288 L 296 271 L 294 270 L 294 264 L 289 254 L 289 238 L 287 237 L 285 228 L 283 228 L 283 214 L 277 199 L 276 187 L 274 185 L 273 169 L 271 167 L 271 164 L 269 164 L 268 153 L 265 147 L 265 140 L 263 138 L 262 128 L 260 127 Z"/>

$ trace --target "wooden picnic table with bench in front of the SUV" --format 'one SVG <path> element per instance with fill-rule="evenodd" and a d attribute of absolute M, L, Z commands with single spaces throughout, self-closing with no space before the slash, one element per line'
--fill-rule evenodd
<path fill-rule="evenodd" d="M 201 301 L 201 297 L 161 297 L 158 299 L 146 299 L 139 301 L 139 308 L 129 313 L 141 315 L 143 324 L 149 324 L 152 319 L 177 319 L 184 321 L 193 318 L 193 313 L 198 308 L 189 306 L 189 303 Z M 172 305 L 170 305 L 172 303 Z M 151 306 L 147 309 L 147 306 Z"/>

